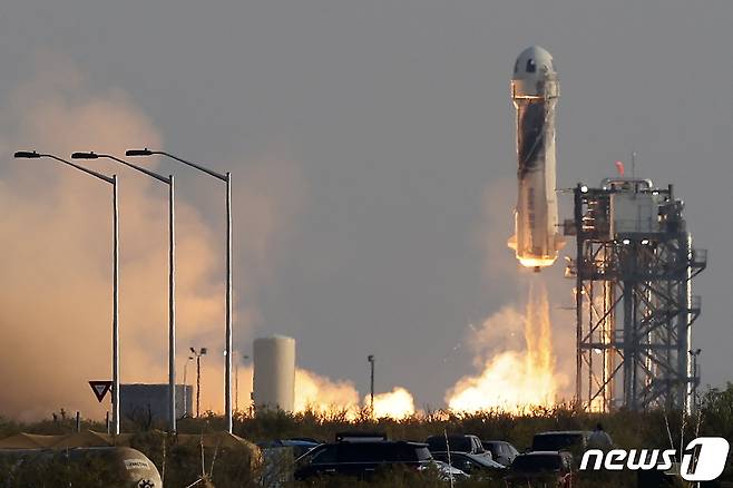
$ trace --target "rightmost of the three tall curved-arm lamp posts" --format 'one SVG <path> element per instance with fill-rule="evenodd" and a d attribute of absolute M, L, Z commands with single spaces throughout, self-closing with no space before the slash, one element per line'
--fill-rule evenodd
<path fill-rule="evenodd" d="M 183 163 L 186 166 L 206 173 L 226 184 L 226 324 L 225 324 L 225 349 L 224 349 L 224 411 L 226 416 L 226 430 L 232 433 L 232 174 L 221 174 L 206 168 L 199 164 L 182 159 L 164 150 L 128 149 L 126 156 L 153 156 L 160 155 Z"/>

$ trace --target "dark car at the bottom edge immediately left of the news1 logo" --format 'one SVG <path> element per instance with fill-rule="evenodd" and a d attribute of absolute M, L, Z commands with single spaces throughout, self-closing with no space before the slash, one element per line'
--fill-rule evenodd
<path fill-rule="evenodd" d="M 570 488 L 577 480 L 577 474 L 571 453 L 532 451 L 515 458 L 505 480 L 510 487 Z"/>

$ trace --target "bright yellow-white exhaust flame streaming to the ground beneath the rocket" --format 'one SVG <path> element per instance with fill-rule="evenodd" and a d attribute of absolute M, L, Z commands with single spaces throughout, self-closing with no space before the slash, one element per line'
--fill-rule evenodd
<path fill-rule="evenodd" d="M 495 353 L 496 339 L 505 338 L 512 328 L 524 336 L 524 344 Z M 555 373 L 549 302 L 543 282 L 530 283 L 524 315 L 505 308 L 473 333 L 471 342 L 480 349 L 475 363 L 481 372 L 462 378 L 447 393 L 451 410 L 520 413 L 557 401 L 561 381 Z M 486 359 L 486 353 L 492 355 Z"/>

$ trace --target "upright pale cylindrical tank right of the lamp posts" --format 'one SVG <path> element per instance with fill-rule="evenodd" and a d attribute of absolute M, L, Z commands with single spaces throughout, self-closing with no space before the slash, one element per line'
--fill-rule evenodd
<path fill-rule="evenodd" d="M 255 339 L 253 400 L 257 411 L 293 411 L 295 402 L 295 339 Z"/>

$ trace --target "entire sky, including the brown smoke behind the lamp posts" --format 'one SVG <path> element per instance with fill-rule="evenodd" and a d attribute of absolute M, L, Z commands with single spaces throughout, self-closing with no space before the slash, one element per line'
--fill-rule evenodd
<path fill-rule="evenodd" d="M 256 336 L 292 335 L 302 368 L 362 394 L 374 354 L 378 390 L 402 385 L 417 404 L 442 407 L 473 371 L 471 324 L 526 300 L 526 273 L 506 247 L 516 198 L 509 79 L 516 56 L 540 45 L 561 87 L 558 187 L 597 184 L 636 152 L 636 174 L 674 184 L 684 199 L 695 245 L 710 253 L 694 285 L 702 380 L 724 384 L 732 20 L 722 0 L 3 1 L 0 264 L 13 271 L 0 285 L 0 331 L 17 357 L 0 360 L 3 377 L 32 390 L 71 378 L 84 391 L 108 364 L 107 295 L 97 290 L 109 272 L 108 193 L 12 152 L 158 146 L 233 174 L 237 354 L 251 355 Z M 154 164 L 175 170 L 182 202 L 179 355 L 221 351 L 223 187 Z M 148 371 L 164 382 L 165 192 L 116 172 L 127 202 L 121 306 L 131 304 L 120 333 L 144 351 L 130 352 L 135 373 L 123 362 L 123 380 L 150 380 Z M 569 203 L 560 196 L 561 217 Z M 544 274 L 556 348 L 571 354 L 575 325 L 563 310 L 573 284 L 560 265 Z M 99 286 L 85 296 L 90 282 Z M 45 354 L 55 362 L 23 365 Z"/>

